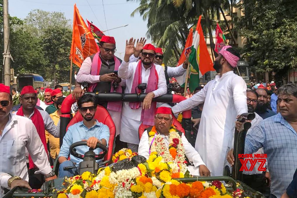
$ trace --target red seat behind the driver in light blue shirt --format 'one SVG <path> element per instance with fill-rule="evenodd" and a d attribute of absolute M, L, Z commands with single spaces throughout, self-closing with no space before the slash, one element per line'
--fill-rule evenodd
<path fill-rule="evenodd" d="M 108 111 L 105 109 L 105 107 L 102 107 L 101 105 L 97 106 L 96 113 L 94 115 L 94 118 L 97 119 L 99 122 L 107 125 L 109 127 L 110 137 L 108 142 L 108 153 L 105 156 L 104 160 L 108 160 L 111 158 L 113 154 L 113 140 L 115 138 L 116 134 L 116 126 L 113 123 L 113 120 L 111 116 L 109 115 Z M 83 121 L 83 117 L 81 116 L 80 112 L 76 112 L 76 114 L 73 116 L 73 118 L 70 120 L 69 124 L 67 125 L 66 132 L 68 130 L 68 127 L 77 123 Z M 84 154 L 84 153 L 80 153 Z"/>

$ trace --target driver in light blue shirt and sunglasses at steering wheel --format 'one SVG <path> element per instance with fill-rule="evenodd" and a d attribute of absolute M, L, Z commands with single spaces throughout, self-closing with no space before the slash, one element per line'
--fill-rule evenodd
<path fill-rule="evenodd" d="M 60 149 L 58 160 L 60 163 L 59 167 L 59 178 L 72 177 L 78 175 L 78 169 L 64 170 L 64 167 L 73 167 L 79 165 L 82 159 L 79 159 L 73 155 L 69 156 L 69 147 L 75 142 L 87 141 L 87 146 L 77 147 L 76 150 L 78 153 L 84 154 L 86 151 L 89 151 L 89 147 L 96 148 L 97 142 L 108 147 L 109 141 L 109 128 L 105 124 L 98 122 L 94 115 L 97 110 L 97 98 L 91 94 L 83 95 L 78 99 L 78 108 L 83 117 L 83 121 L 69 126 L 67 133 L 63 138 L 63 144 Z M 97 148 L 94 150 L 94 153 L 98 154 L 102 149 Z M 102 160 L 102 159 L 101 159 Z M 101 161 L 97 160 L 97 162 Z"/>

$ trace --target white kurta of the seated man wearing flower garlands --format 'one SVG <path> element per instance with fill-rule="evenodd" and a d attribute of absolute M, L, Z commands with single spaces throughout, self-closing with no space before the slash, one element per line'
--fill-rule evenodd
<path fill-rule="evenodd" d="M 164 143 L 166 147 L 169 147 L 169 137 L 164 136 Z M 187 138 L 184 136 L 184 134 L 181 135 L 181 141 L 184 145 L 185 149 L 185 155 L 188 158 L 189 162 L 193 166 L 188 166 L 188 170 L 191 175 L 198 175 L 199 176 L 199 166 L 200 165 L 205 165 L 204 162 L 202 161 L 199 153 L 195 150 L 195 148 L 189 143 Z M 145 130 L 141 136 L 140 142 L 139 142 L 139 147 L 138 147 L 138 155 L 144 156 L 146 159 L 149 159 L 149 135 L 148 132 Z"/>

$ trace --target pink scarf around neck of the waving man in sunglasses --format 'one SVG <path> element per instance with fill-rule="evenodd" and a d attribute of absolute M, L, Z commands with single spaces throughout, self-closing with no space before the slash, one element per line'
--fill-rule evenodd
<path fill-rule="evenodd" d="M 142 73 L 142 62 L 138 61 L 138 65 L 136 67 L 136 71 L 133 78 L 131 94 L 136 94 L 135 88 L 142 83 L 141 73 Z M 155 64 L 151 64 L 151 70 L 149 73 L 146 93 L 149 93 L 158 89 L 158 81 L 159 81 L 159 77 L 158 77 Z M 140 90 L 138 93 L 140 93 Z M 141 108 L 140 104 L 141 104 L 140 102 L 130 102 L 129 106 L 131 107 L 131 109 L 138 109 L 139 107 Z M 153 126 L 156 109 L 157 109 L 157 102 L 152 102 L 150 109 L 146 110 L 146 112 L 144 110 L 141 111 L 140 121 L 142 121 L 144 125 Z"/>

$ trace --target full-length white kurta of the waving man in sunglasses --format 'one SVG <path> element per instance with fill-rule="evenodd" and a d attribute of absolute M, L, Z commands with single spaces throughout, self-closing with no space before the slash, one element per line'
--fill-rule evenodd
<path fill-rule="evenodd" d="M 137 64 L 138 62 L 127 63 L 125 61 L 122 61 L 121 65 L 119 66 L 119 71 L 118 71 L 119 77 L 126 79 L 125 94 L 131 93 Z M 162 66 L 155 64 L 155 68 L 158 73 L 159 81 L 158 81 L 158 89 L 153 91 L 153 93 L 155 94 L 155 97 L 158 97 L 167 93 L 167 85 L 166 85 L 164 69 L 162 68 Z M 141 72 L 142 83 L 148 83 L 150 71 L 151 71 L 151 68 L 145 69 L 142 65 L 142 72 Z M 141 111 L 142 111 L 141 105 L 138 109 L 131 109 L 131 107 L 129 106 L 129 102 L 123 103 L 122 118 L 121 118 L 121 135 L 120 135 L 121 141 L 132 143 L 132 144 L 139 144 L 138 127 L 141 124 L 140 122 Z"/>

